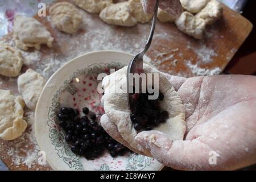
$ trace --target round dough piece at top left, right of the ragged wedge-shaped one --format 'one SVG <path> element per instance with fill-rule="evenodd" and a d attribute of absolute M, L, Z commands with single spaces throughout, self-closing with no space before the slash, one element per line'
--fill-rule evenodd
<path fill-rule="evenodd" d="M 82 16 L 74 5 L 68 2 L 59 2 L 49 9 L 52 24 L 60 31 L 73 34 L 82 22 Z"/>

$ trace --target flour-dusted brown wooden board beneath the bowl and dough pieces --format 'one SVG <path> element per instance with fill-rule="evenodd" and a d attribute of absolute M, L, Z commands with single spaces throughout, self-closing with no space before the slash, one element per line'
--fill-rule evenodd
<path fill-rule="evenodd" d="M 102 22 L 98 15 L 80 11 L 83 23 L 76 35 L 63 34 L 53 28 L 47 18 L 35 16 L 51 32 L 55 43 L 52 49 L 43 46 L 36 54 L 34 50 L 22 52 L 26 60 L 23 72 L 32 68 L 49 78 L 62 64 L 82 53 L 115 49 L 135 54 L 143 48 L 150 31 L 150 23 L 130 28 L 110 26 Z M 207 28 L 203 40 L 184 35 L 172 23 L 158 22 L 152 46 L 145 59 L 150 60 L 161 71 L 172 75 L 192 77 L 217 74 L 224 70 L 252 28 L 249 20 L 226 6 L 222 18 Z M 1 41 L 13 44 L 12 37 L 13 34 L 10 33 Z M 0 76 L 0 88 L 10 89 L 18 94 L 16 78 L 10 80 Z M 30 152 L 26 151 L 36 147 L 28 133 L 31 133 L 31 126 L 24 134 L 25 137 L 11 142 L 0 140 L 0 158 L 10 169 L 51 169 L 48 165 L 39 166 L 36 160 L 31 167 L 26 164 L 14 165 L 14 156 L 10 155 L 12 148 L 17 154 L 26 156 L 30 155 Z"/>

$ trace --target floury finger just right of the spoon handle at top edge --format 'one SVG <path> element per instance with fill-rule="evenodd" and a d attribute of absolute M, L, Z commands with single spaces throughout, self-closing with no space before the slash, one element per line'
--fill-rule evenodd
<path fill-rule="evenodd" d="M 159 7 L 174 18 L 179 18 L 183 11 L 179 0 L 161 0 Z"/>

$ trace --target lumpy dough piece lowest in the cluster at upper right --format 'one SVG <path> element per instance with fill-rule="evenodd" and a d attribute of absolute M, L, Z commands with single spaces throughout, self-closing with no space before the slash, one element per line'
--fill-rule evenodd
<path fill-rule="evenodd" d="M 175 20 L 175 23 L 177 28 L 184 34 L 190 35 L 195 39 L 203 39 L 206 26 L 203 19 L 195 18 L 194 15 L 185 11 Z"/>

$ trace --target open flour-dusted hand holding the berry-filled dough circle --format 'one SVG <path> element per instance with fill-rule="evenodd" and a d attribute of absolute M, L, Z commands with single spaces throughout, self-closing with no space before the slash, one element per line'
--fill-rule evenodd
<path fill-rule="evenodd" d="M 232 170 L 256 163 L 256 77 L 171 76 L 170 81 L 186 108 L 184 140 L 172 142 L 158 131 L 143 131 L 136 137 L 141 146 L 175 169 Z M 123 143 L 117 127 L 107 117 L 103 120 L 104 129 Z M 152 134 L 162 147 L 150 142 Z M 209 164 L 210 151 L 219 155 L 216 165 Z"/>

